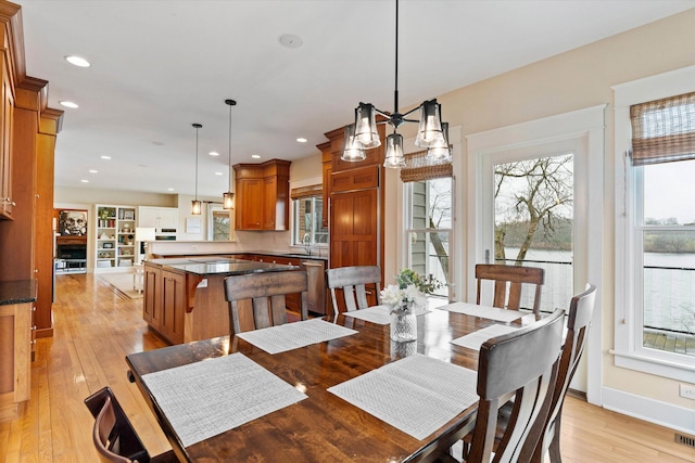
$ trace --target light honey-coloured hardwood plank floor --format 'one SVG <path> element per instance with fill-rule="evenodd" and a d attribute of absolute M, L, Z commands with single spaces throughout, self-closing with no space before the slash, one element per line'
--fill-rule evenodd
<path fill-rule="evenodd" d="M 94 462 L 92 417 L 84 399 L 111 386 L 152 454 L 168 449 L 154 416 L 126 377 L 126 353 L 163 347 L 128 299 L 86 274 L 56 276 L 54 336 L 39 339 L 31 399 L 23 415 L 0 423 L 0 462 Z M 563 419 L 566 463 L 695 462 L 673 430 L 568 397 Z"/>

